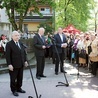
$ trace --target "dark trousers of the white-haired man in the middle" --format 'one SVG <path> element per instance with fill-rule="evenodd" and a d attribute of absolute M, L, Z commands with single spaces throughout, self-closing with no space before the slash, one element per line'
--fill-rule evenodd
<path fill-rule="evenodd" d="M 45 67 L 45 57 L 44 56 L 36 56 L 36 61 L 37 61 L 36 76 L 43 75 L 44 67 Z"/>

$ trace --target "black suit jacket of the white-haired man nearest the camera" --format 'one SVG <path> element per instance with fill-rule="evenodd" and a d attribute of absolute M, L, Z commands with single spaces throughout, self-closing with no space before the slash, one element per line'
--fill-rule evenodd
<path fill-rule="evenodd" d="M 21 49 L 16 43 L 11 40 L 6 45 L 6 61 L 7 65 L 12 65 L 14 68 L 21 68 L 26 61 L 26 52 L 23 43 L 19 42 Z"/>

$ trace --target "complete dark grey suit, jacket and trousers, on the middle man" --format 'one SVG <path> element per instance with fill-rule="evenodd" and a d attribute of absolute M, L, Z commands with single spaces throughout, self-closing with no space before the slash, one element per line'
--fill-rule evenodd
<path fill-rule="evenodd" d="M 45 66 L 45 49 L 43 49 L 42 46 L 45 45 L 45 38 L 41 38 L 39 34 L 36 34 L 33 39 L 33 45 L 37 61 L 36 76 L 42 76 Z"/>

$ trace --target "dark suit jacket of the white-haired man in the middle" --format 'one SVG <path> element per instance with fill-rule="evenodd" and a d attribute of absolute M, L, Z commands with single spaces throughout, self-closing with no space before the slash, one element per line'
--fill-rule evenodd
<path fill-rule="evenodd" d="M 36 34 L 33 39 L 33 45 L 34 45 L 34 51 L 36 56 L 44 56 L 45 55 L 45 49 L 42 48 L 43 45 L 45 45 L 45 38 L 39 36 L 39 34 Z"/>

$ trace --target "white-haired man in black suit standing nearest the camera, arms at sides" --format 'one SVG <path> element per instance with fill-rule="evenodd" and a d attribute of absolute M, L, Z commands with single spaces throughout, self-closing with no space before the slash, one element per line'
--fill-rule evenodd
<path fill-rule="evenodd" d="M 14 96 L 19 96 L 17 92 L 26 93 L 22 90 L 23 67 L 28 66 L 24 45 L 19 41 L 20 34 L 12 32 L 12 40 L 6 45 L 6 61 L 9 68 L 10 88 Z"/>

